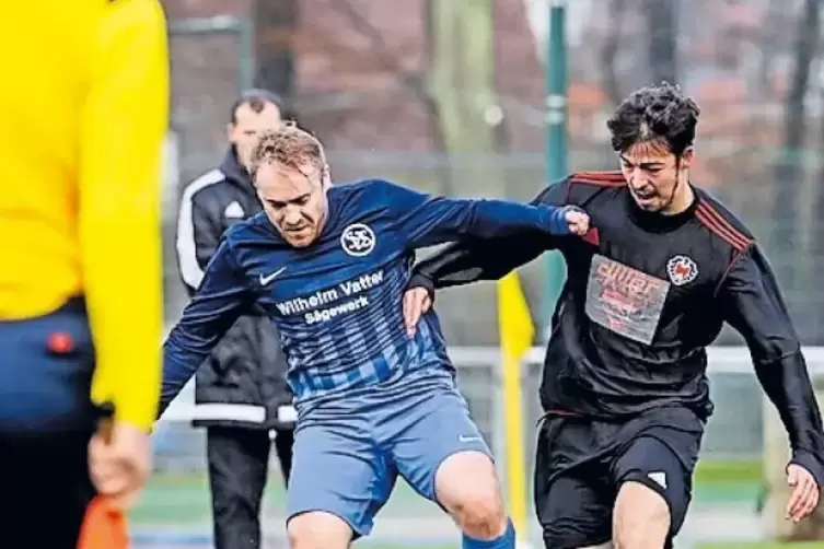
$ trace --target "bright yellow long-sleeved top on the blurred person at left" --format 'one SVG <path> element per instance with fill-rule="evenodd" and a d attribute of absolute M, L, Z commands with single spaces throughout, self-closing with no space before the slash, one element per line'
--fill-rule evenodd
<path fill-rule="evenodd" d="M 92 398 L 149 428 L 161 375 L 162 9 L 156 0 L 7 3 L 0 319 L 84 295 L 96 350 Z"/>

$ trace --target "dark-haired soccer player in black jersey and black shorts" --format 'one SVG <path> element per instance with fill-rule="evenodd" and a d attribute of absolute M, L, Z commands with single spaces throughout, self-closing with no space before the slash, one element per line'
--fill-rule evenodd
<path fill-rule="evenodd" d="M 706 347 L 723 323 L 744 337 L 789 434 L 787 517 L 800 521 L 819 503 L 824 433 L 798 336 L 750 231 L 689 180 L 698 115 L 666 83 L 618 106 L 607 126 L 620 171 L 572 174 L 534 200 L 583 208 L 584 240 L 464 241 L 417 267 L 446 288 L 498 279 L 546 249 L 565 257 L 535 460 L 548 549 L 672 545 L 712 412 Z M 432 288 L 407 292 L 409 329 Z"/>

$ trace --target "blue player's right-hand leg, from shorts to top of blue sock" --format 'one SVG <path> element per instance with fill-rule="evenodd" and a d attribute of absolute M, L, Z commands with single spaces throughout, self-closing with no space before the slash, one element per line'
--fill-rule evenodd
<path fill-rule="evenodd" d="M 391 446 L 401 475 L 452 515 L 464 547 L 514 547 L 491 454 L 452 382 L 393 406 Z"/>

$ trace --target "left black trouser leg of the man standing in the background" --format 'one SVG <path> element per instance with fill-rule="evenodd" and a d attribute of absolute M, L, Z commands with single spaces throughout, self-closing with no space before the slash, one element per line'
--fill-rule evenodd
<path fill-rule="evenodd" d="M 209 427 L 206 444 L 216 549 L 260 547 L 268 431 Z"/>

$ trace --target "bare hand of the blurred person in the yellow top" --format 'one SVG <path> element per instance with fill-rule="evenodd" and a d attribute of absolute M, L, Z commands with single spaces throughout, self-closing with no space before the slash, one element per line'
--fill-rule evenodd
<path fill-rule="evenodd" d="M 111 441 L 95 434 L 89 441 L 89 472 L 97 492 L 127 511 L 151 472 L 149 433 L 115 422 Z"/>

